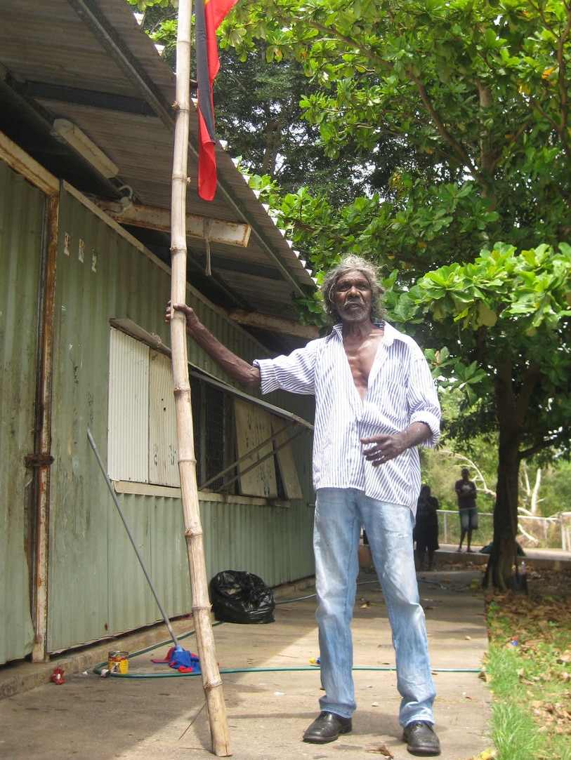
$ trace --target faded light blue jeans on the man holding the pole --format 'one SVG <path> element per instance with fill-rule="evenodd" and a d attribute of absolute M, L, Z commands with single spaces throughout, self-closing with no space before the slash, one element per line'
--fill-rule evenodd
<path fill-rule="evenodd" d="M 427 633 L 418 596 L 410 508 L 370 499 L 357 489 L 317 491 L 313 547 L 319 657 L 325 695 L 322 710 L 351 717 L 355 708 L 351 619 L 359 573 L 363 526 L 385 596 L 395 647 L 399 722 L 433 723 L 436 689 L 430 673 Z"/>

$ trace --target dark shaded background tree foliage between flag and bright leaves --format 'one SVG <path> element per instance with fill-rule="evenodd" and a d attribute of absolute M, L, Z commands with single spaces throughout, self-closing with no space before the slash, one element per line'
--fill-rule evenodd
<path fill-rule="evenodd" d="M 300 62 L 268 62 L 262 41 L 244 60 L 225 48 L 220 68 L 214 93 L 217 134 L 247 173 L 268 176 L 280 195 L 297 192 L 310 177 L 312 194 L 335 206 L 366 192 L 367 176 L 354 141 L 329 157 L 319 128 L 303 119 L 300 103 L 314 86 Z"/>

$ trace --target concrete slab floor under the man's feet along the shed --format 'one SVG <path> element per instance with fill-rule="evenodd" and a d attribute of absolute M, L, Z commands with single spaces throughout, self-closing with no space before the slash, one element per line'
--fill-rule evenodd
<path fill-rule="evenodd" d="M 491 695 L 478 673 L 487 651 L 483 593 L 477 587 L 481 571 L 437 570 L 418 577 L 438 690 L 441 758 L 468 760 L 491 746 Z M 319 713 L 319 668 L 309 663 L 319 655 L 313 589 L 292 587 L 276 600 L 275 622 L 214 624 L 233 756 L 411 758 L 401 741 L 400 697 L 390 670 L 394 651 L 376 576 L 361 573 L 354 607 L 354 730 L 330 744 L 302 742 L 303 731 Z M 192 619 L 177 622 L 177 628 L 182 647 L 195 652 Z M 201 677 L 180 676 L 168 665 L 151 663 L 172 645 L 166 627 L 158 641 L 154 648 L 129 652 L 128 677 L 103 678 L 93 667 L 65 670 L 61 685 L 48 682 L 0 700 L 0 758 L 213 757 Z M 382 753 L 383 746 L 390 755 Z"/>

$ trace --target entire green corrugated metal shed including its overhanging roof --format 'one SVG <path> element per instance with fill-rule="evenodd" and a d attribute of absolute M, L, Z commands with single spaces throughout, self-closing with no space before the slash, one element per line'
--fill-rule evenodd
<path fill-rule="evenodd" d="M 106 461 L 112 328 L 131 337 L 134 331 L 134 340 L 153 344 L 154 356 L 168 353 L 169 235 L 136 220 L 119 226 L 116 209 L 132 192 L 145 214 L 168 213 L 174 90 L 173 72 L 126 3 L 0 0 L 0 19 L 3 663 L 43 659 L 161 619 L 87 429 Z M 74 120 L 118 175 L 103 179 L 54 137 L 58 119 Z M 191 122 L 192 177 L 195 114 Z M 245 237 L 242 247 L 224 236 L 207 246 L 200 232 L 189 233 L 189 299 L 243 358 L 290 350 L 306 340 L 290 296 L 312 287 L 312 279 L 221 151 L 218 167 L 212 204 L 199 201 L 195 186 L 189 192 L 193 223 L 234 226 Z M 290 328 L 280 331 L 284 308 Z M 224 381 L 196 347 L 189 361 L 209 388 L 210 378 Z M 232 389 L 224 397 L 231 400 Z M 271 401 L 288 410 L 286 418 L 311 419 L 307 397 L 275 394 Z M 312 574 L 311 435 L 291 448 L 302 499 L 201 496 L 209 577 L 247 569 L 276 585 Z M 167 613 L 188 613 L 178 492 L 128 482 L 117 491 Z"/>

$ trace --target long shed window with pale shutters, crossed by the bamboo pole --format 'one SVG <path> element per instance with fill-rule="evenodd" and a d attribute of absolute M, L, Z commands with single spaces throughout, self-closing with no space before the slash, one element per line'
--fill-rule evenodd
<path fill-rule="evenodd" d="M 300 499 L 288 421 L 196 372 L 189 379 L 199 488 Z M 170 358 L 113 327 L 108 426 L 111 480 L 179 486 Z"/>

